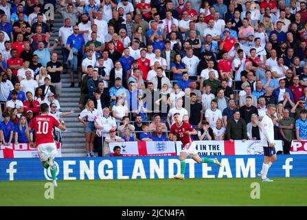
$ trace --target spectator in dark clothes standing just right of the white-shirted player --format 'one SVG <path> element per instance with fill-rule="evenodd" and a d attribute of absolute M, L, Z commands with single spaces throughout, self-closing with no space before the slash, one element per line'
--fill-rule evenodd
<path fill-rule="evenodd" d="M 284 109 L 284 117 L 278 122 L 278 124 L 280 134 L 282 135 L 282 140 L 284 141 L 284 154 L 290 154 L 291 141 L 295 139 L 293 132 L 295 120 L 289 116 L 288 109 Z"/>

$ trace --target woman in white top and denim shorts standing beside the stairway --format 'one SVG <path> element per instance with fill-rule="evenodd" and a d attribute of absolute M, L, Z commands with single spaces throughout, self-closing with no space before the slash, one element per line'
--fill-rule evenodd
<path fill-rule="evenodd" d="M 94 108 L 93 100 L 88 100 L 85 109 L 80 112 L 78 120 L 84 126 L 85 148 L 87 149 L 87 157 L 93 157 L 94 138 L 95 138 L 95 116 L 98 116 L 98 111 Z"/>

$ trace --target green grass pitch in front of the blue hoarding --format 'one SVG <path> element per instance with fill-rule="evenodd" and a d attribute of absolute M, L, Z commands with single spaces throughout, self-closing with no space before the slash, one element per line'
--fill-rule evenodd
<path fill-rule="evenodd" d="M 0 181 L 0 206 L 307 206 L 307 177 L 272 179 L 58 181 L 54 199 L 44 197 L 47 181 Z"/>

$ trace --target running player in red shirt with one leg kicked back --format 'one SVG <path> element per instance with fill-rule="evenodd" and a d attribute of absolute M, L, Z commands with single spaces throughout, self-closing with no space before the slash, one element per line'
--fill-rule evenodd
<path fill-rule="evenodd" d="M 217 158 L 209 159 L 209 158 L 201 158 L 199 157 L 197 150 L 196 150 L 196 144 L 193 142 L 190 135 L 197 135 L 197 131 L 188 123 L 182 122 L 180 119 L 179 113 L 174 113 L 174 121 L 175 124 L 173 124 L 170 127 L 170 134 L 168 135 L 169 140 L 173 140 L 173 135 L 176 133 L 177 137 L 183 144 L 183 151 L 181 151 L 179 160 L 180 160 L 180 166 L 181 166 L 181 175 L 177 175 L 174 178 L 175 179 L 184 179 L 184 173 L 185 173 L 185 158 L 188 156 L 192 157 L 198 164 L 201 163 L 208 163 L 208 164 L 216 164 L 218 166 L 222 166 L 220 162 L 218 162 Z"/>

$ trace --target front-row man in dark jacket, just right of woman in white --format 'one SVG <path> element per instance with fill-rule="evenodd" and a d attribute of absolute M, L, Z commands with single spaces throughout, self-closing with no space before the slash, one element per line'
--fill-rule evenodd
<path fill-rule="evenodd" d="M 230 142 L 234 142 L 234 140 L 245 142 L 247 140 L 247 124 L 245 120 L 240 118 L 240 111 L 234 111 L 234 118 L 228 120 L 226 135 L 227 140 L 230 140 Z"/>

